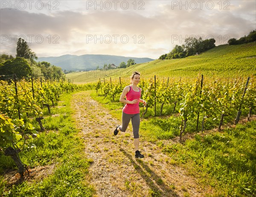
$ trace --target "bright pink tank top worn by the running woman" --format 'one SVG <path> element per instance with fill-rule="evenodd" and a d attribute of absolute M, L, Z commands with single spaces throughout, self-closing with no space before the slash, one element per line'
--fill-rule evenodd
<path fill-rule="evenodd" d="M 139 100 L 141 96 L 141 89 L 139 88 L 139 92 L 136 92 L 132 89 L 130 86 L 130 91 L 126 94 L 126 100 L 133 101 L 134 99 L 138 99 L 138 102 L 136 104 L 125 104 L 125 107 L 123 108 L 123 112 L 127 114 L 136 114 L 140 113 L 140 107 L 139 107 Z"/>

